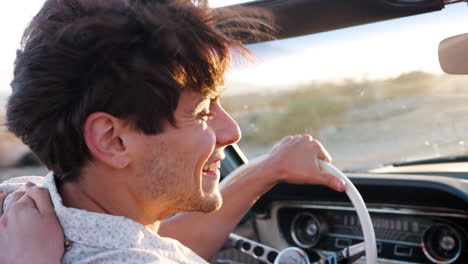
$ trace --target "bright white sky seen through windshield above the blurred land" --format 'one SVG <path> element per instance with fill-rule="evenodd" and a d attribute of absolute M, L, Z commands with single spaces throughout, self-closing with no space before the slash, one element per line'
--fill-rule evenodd
<path fill-rule="evenodd" d="M 256 63 L 234 65 L 227 75 L 227 87 L 245 85 L 227 92 L 245 92 L 249 85 L 287 89 L 310 81 L 383 79 L 414 70 L 442 73 L 439 42 L 468 31 L 468 16 L 462 12 L 451 16 L 451 9 L 428 14 L 434 19 L 423 22 L 421 16 L 402 18 L 250 46 Z M 437 16 L 450 19 L 451 26 L 440 23 Z M 350 30 L 352 34 L 346 34 Z"/>

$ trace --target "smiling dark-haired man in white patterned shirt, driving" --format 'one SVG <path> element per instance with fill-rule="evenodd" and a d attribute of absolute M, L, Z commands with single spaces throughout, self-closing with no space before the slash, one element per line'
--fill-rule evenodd
<path fill-rule="evenodd" d="M 330 158 L 308 135 L 218 188 L 223 150 L 240 139 L 219 87 L 231 52 L 245 52 L 236 38 L 271 30 L 258 15 L 189 0 L 45 2 L 17 54 L 7 125 L 51 172 L 0 190 L 47 188 L 63 263 L 206 263 L 276 183 L 344 190 L 318 168 Z M 27 189 L 5 200 L 0 228 L 14 229 L 5 219 L 21 208 L 50 209 Z"/>

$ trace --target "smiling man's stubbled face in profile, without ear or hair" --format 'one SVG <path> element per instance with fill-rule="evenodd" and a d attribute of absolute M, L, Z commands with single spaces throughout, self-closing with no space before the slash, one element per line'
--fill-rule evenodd
<path fill-rule="evenodd" d="M 218 190 L 224 148 L 240 139 L 236 122 L 218 98 L 202 100 L 183 92 L 174 113 L 176 126 L 141 135 L 136 163 L 140 195 L 147 202 L 167 203 L 173 211 L 211 212 L 222 203 Z M 141 151 L 140 151 L 141 150 Z"/>

